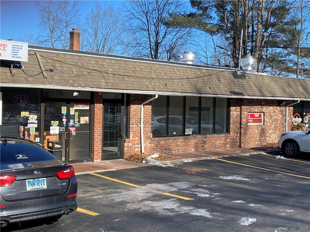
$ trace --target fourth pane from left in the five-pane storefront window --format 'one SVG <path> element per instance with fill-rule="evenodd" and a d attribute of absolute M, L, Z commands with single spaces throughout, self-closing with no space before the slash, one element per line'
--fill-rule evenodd
<path fill-rule="evenodd" d="M 213 97 L 201 97 L 201 134 L 213 133 Z"/>

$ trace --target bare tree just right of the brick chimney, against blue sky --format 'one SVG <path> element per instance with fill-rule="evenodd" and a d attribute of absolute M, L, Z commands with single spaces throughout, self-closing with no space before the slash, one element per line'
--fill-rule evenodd
<path fill-rule="evenodd" d="M 96 2 L 85 22 L 85 45 L 88 51 L 119 55 L 126 53 L 130 39 L 125 20 L 118 9 Z"/>

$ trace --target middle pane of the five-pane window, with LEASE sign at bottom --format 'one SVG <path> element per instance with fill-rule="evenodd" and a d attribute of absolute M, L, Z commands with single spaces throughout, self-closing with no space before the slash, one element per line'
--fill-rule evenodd
<path fill-rule="evenodd" d="M 199 97 L 186 97 L 185 135 L 197 135 L 199 125 Z"/>

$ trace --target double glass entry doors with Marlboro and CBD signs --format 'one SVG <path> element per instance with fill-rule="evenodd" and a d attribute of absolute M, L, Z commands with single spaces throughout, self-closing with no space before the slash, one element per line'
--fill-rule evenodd
<path fill-rule="evenodd" d="M 89 102 L 46 101 L 44 148 L 48 141 L 61 141 L 63 161 L 90 161 L 90 123 Z"/>

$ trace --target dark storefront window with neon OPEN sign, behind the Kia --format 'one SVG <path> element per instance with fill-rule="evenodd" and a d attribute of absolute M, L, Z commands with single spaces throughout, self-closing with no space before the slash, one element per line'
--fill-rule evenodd
<path fill-rule="evenodd" d="M 1 88 L 2 136 L 14 136 L 39 141 L 40 90 Z"/>

